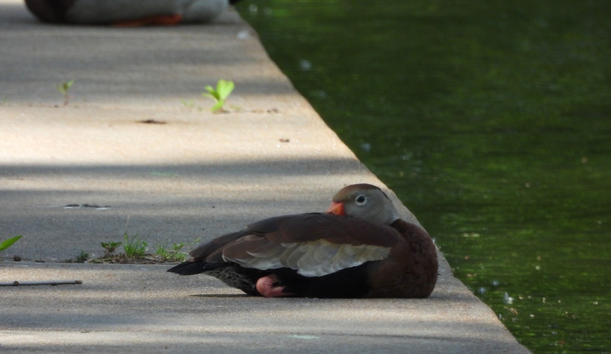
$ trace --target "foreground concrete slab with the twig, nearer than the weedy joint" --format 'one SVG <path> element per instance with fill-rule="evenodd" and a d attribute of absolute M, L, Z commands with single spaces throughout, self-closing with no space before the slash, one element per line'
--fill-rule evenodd
<path fill-rule="evenodd" d="M 452 276 L 427 299 L 249 297 L 167 266 L 24 263 L 4 287 L 5 352 L 527 353 Z M 10 304 L 10 305 L 9 305 Z"/>

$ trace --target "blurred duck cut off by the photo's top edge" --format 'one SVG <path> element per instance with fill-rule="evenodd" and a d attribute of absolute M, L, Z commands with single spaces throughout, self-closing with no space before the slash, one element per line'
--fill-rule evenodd
<path fill-rule="evenodd" d="M 116 26 L 205 23 L 238 0 L 26 0 L 41 21 Z"/>

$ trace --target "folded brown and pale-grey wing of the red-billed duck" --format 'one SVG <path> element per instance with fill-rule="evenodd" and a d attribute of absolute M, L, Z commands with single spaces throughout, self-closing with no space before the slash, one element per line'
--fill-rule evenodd
<path fill-rule="evenodd" d="M 329 214 L 285 215 L 248 228 L 221 236 L 230 242 L 205 260 L 221 256 L 246 268 L 290 268 L 304 276 L 323 276 L 384 259 L 400 241 L 390 226 Z"/>

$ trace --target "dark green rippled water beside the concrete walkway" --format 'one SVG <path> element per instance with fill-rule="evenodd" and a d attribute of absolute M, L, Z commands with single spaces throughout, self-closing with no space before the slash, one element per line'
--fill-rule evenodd
<path fill-rule="evenodd" d="M 611 353 L 611 1 L 238 9 L 522 344 Z"/>

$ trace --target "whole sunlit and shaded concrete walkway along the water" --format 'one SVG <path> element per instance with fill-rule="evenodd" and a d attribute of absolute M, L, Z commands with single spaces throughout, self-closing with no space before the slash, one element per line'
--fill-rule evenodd
<path fill-rule="evenodd" d="M 0 253 L 0 282 L 83 281 L 0 287 L 0 352 L 529 353 L 443 259 L 424 300 L 246 297 L 164 265 L 62 262 L 125 233 L 149 250 L 193 246 L 322 211 L 346 184 L 383 185 L 235 12 L 208 26 L 50 26 L 0 0 L 0 48 L 0 239 L 23 234 Z M 236 89 L 211 114 L 200 92 L 218 79 Z M 55 86 L 69 80 L 64 106 Z"/>

